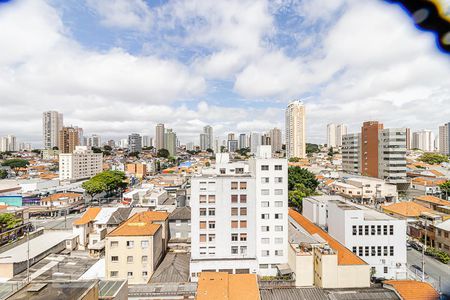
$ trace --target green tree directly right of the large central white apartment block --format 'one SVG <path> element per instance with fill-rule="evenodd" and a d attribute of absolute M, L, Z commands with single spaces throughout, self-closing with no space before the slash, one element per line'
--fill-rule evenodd
<path fill-rule="evenodd" d="M 300 167 L 289 167 L 288 169 L 288 200 L 289 206 L 302 210 L 302 201 L 304 197 L 311 196 L 319 182 L 316 176 L 307 169 Z"/>

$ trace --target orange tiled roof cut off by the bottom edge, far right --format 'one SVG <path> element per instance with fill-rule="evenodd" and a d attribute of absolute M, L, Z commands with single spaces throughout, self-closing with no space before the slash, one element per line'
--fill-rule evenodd
<path fill-rule="evenodd" d="M 437 300 L 438 292 L 427 282 L 415 280 L 388 280 L 383 285 L 392 286 L 404 300 Z"/>

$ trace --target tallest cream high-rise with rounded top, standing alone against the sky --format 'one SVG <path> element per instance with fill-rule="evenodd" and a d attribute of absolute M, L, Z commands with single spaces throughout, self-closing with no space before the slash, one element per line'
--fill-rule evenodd
<path fill-rule="evenodd" d="M 301 101 L 286 108 L 286 157 L 306 157 L 306 112 Z"/>

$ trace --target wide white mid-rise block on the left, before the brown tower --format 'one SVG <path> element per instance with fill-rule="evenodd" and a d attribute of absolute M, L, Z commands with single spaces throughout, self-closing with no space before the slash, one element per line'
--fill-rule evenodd
<path fill-rule="evenodd" d="M 77 146 L 73 153 L 59 154 L 59 179 L 80 180 L 91 178 L 102 171 L 103 154 Z"/>

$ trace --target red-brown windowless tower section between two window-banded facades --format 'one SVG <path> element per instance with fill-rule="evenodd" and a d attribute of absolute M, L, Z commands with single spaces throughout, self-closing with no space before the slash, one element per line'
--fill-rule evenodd
<path fill-rule="evenodd" d="M 378 135 L 383 124 L 367 121 L 361 127 L 361 175 L 378 177 Z"/>

